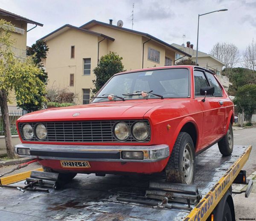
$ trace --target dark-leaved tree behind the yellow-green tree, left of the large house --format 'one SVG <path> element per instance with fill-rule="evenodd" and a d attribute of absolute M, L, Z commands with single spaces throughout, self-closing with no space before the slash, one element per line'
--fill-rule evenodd
<path fill-rule="evenodd" d="M 39 79 L 47 85 L 47 79 L 48 75 L 44 70 L 44 67 L 42 65 L 42 59 L 45 59 L 47 57 L 47 52 L 49 51 L 49 48 L 47 46 L 47 43 L 44 40 L 38 40 L 31 46 L 31 48 L 27 49 L 26 54 L 28 56 L 32 56 L 33 61 L 35 64 L 41 68 L 43 74 L 39 76 Z M 39 91 L 39 94 L 34 94 L 34 99 L 31 100 L 29 103 L 22 103 L 21 105 L 18 105 L 20 108 L 32 112 L 32 111 L 38 111 L 43 108 L 44 105 L 44 97 L 46 94 L 43 91 Z M 36 101 L 33 102 L 33 101 Z"/>

